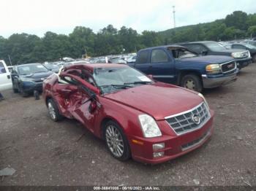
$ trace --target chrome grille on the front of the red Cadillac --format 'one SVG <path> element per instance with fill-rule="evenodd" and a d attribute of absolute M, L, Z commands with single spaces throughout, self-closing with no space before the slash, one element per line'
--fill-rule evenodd
<path fill-rule="evenodd" d="M 197 115 L 200 118 L 199 123 L 192 120 L 192 116 Z M 202 128 L 203 125 L 210 119 L 211 115 L 206 104 L 203 102 L 193 109 L 180 114 L 175 114 L 170 117 L 165 117 L 165 120 L 170 125 L 177 135 L 187 133 L 192 130 Z"/>

